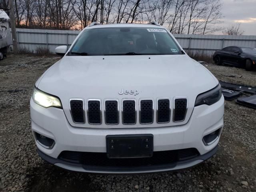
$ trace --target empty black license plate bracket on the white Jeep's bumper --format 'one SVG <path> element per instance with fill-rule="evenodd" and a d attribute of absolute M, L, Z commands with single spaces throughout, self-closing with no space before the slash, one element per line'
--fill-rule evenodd
<path fill-rule="evenodd" d="M 107 135 L 108 158 L 142 158 L 153 156 L 152 134 Z"/>

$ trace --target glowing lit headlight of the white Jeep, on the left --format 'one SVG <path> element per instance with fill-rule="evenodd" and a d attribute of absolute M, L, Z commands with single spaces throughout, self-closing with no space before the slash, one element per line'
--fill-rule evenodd
<path fill-rule="evenodd" d="M 44 108 L 48 108 L 48 107 L 62 108 L 59 98 L 46 94 L 36 88 L 34 88 L 32 98 L 36 104 Z"/>

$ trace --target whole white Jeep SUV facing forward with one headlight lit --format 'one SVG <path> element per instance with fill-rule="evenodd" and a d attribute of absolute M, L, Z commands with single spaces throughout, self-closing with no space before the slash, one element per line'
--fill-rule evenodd
<path fill-rule="evenodd" d="M 141 173 L 194 166 L 216 153 L 218 80 L 170 32 L 92 23 L 37 80 L 30 100 L 38 154 L 56 166 Z"/>

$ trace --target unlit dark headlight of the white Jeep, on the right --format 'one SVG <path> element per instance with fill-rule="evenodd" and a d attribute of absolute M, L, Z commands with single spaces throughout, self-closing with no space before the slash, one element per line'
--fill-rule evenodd
<path fill-rule="evenodd" d="M 212 105 L 216 103 L 218 100 L 220 100 L 221 96 L 222 96 L 222 93 L 220 90 L 220 84 L 218 84 L 215 88 L 199 94 L 196 97 L 195 106 L 203 105 L 203 104 Z"/>

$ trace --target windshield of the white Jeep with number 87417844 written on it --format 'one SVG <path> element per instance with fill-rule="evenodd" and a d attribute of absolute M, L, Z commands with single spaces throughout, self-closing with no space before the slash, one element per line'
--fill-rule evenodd
<path fill-rule="evenodd" d="M 182 54 L 174 39 L 159 28 L 92 28 L 77 39 L 68 55 Z"/>

